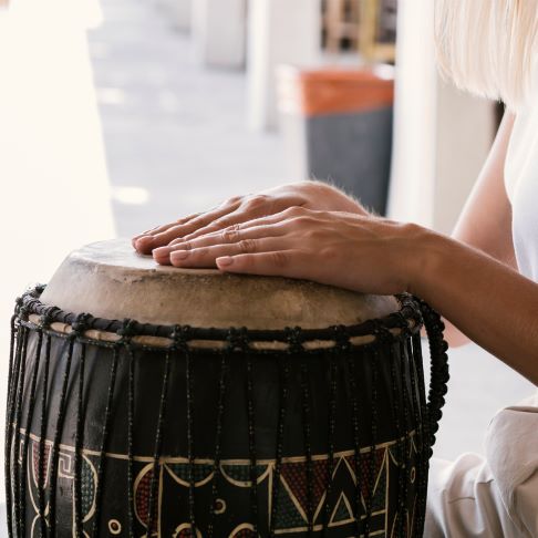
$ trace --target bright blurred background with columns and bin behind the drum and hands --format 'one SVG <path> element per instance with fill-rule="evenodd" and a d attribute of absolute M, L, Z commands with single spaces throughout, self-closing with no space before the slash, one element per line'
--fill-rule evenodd
<path fill-rule="evenodd" d="M 311 177 L 449 234 L 501 114 L 439 80 L 431 0 L 0 0 L 2 405 L 14 298 L 70 250 Z M 532 390 L 451 363 L 447 458 Z"/>

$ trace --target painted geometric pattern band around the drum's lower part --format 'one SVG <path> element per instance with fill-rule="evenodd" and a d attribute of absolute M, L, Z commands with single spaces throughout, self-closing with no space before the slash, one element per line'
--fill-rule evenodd
<path fill-rule="evenodd" d="M 21 435 L 24 436 L 24 432 L 21 432 Z M 407 436 L 410 441 L 408 446 L 410 451 L 413 453 L 416 452 L 415 444 L 414 444 L 414 433 L 411 433 Z M 44 467 L 43 467 L 43 477 L 45 482 L 50 480 L 50 448 L 52 442 L 45 439 L 44 443 Z M 40 536 L 39 526 L 37 525 L 39 518 L 39 509 L 38 509 L 38 457 L 39 457 L 39 438 L 34 435 L 31 435 L 30 439 L 30 454 L 31 457 L 28 459 L 29 466 L 31 465 L 31 472 L 28 474 L 29 480 L 29 493 L 30 498 L 32 500 L 32 506 L 34 509 L 34 519 L 32 523 L 32 531 L 31 536 Z M 396 442 L 393 443 L 385 443 L 380 445 L 375 448 L 375 457 L 374 457 L 374 490 L 372 497 L 372 515 L 373 515 L 373 524 L 370 529 L 370 536 L 395 536 L 395 528 L 397 526 L 397 521 L 389 521 L 387 520 L 387 488 L 389 488 L 389 480 L 390 480 L 390 473 L 391 469 L 395 466 L 399 466 L 397 462 L 397 452 L 399 452 L 400 444 Z M 59 470 L 58 475 L 60 478 L 64 479 L 64 486 L 66 489 L 73 489 L 73 456 L 74 456 L 74 447 L 71 446 L 63 446 L 61 452 Z M 114 467 L 114 462 L 116 464 L 122 465 L 125 461 L 125 455 L 117 455 L 117 454 L 107 454 L 107 459 L 111 462 L 112 468 L 114 468 L 115 473 L 118 474 L 121 468 Z M 410 455 L 412 456 L 412 455 Z M 92 529 L 92 517 L 95 513 L 95 492 L 97 487 L 97 473 L 95 470 L 94 464 L 92 464 L 92 458 L 95 458 L 95 454 L 91 451 L 83 451 L 83 459 L 82 459 L 82 514 L 83 514 L 83 521 L 84 528 L 90 531 Z M 138 459 L 147 459 L 147 458 L 138 458 Z M 327 484 L 327 472 L 328 472 L 328 463 L 329 456 L 328 455 L 314 455 L 313 459 L 313 484 L 312 484 L 312 494 L 313 494 L 313 506 L 315 507 L 314 510 L 314 518 L 313 518 L 313 531 L 314 534 L 319 532 L 323 528 L 323 511 L 322 508 L 325 501 L 325 484 Z M 410 457 L 412 461 L 413 457 Z M 262 495 L 263 498 L 268 501 L 267 514 L 271 514 L 270 509 L 270 501 L 272 498 L 272 487 L 273 487 L 273 477 L 275 477 L 275 461 L 265 461 L 260 462 L 260 465 L 257 466 L 257 477 L 258 477 L 258 487 L 260 493 L 266 492 L 266 495 Z M 371 453 L 370 448 L 364 448 L 361 451 L 360 457 L 360 473 L 361 476 L 365 476 L 368 473 L 369 465 L 371 463 Z M 145 524 L 147 521 L 147 513 L 149 507 L 149 494 L 151 494 L 151 484 L 153 477 L 153 463 L 141 463 L 142 467 L 137 473 L 135 483 L 134 483 L 134 499 L 135 499 L 135 513 L 136 517 L 145 528 Z M 276 534 L 286 536 L 300 536 L 298 532 L 304 532 L 308 530 L 308 517 L 307 517 L 307 469 L 306 469 L 307 461 L 303 457 L 296 457 L 296 458 L 284 458 L 282 462 L 281 474 L 280 474 L 280 488 L 279 488 L 279 497 L 278 497 L 278 511 L 277 511 L 277 521 L 276 521 Z M 226 483 L 231 486 L 232 489 L 235 488 L 250 488 L 250 468 L 249 462 L 245 461 L 223 461 L 220 463 L 221 476 L 226 480 Z M 165 473 L 166 472 L 166 473 Z M 166 480 L 165 477 L 169 476 L 173 480 Z M 194 462 L 194 476 L 195 476 L 195 485 L 196 488 L 210 488 L 210 483 L 214 476 L 214 462 L 211 461 L 195 461 Z M 355 470 L 355 458 L 353 451 L 348 451 L 344 453 L 334 454 L 334 468 L 332 473 L 332 479 L 338 482 L 342 485 L 342 487 L 334 492 L 334 500 L 330 505 L 330 519 L 328 521 L 327 527 L 330 529 L 341 528 L 342 530 L 346 530 L 348 532 L 352 532 L 355 525 L 355 509 L 353 506 L 353 497 L 354 497 L 354 487 L 356 485 L 356 470 Z M 153 536 L 167 536 L 165 532 L 159 532 L 158 526 L 158 513 L 163 503 L 179 505 L 186 499 L 186 492 L 189 487 L 189 466 L 188 461 L 186 458 L 163 458 L 159 465 L 159 478 L 158 478 L 158 504 L 155 505 L 155 513 L 153 517 Z M 360 480 L 364 484 L 364 480 Z M 225 488 L 221 488 L 223 493 L 225 493 Z M 363 486 L 362 492 L 362 505 L 365 509 L 366 507 L 366 496 L 368 492 L 365 486 Z M 248 500 L 248 496 L 245 497 Z M 229 499 L 226 498 L 226 495 L 223 495 L 223 498 L 219 499 L 220 507 L 217 509 L 218 516 L 225 517 L 227 511 L 227 506 L 230 503 Z M 48 511 L 48 510 L 46 510 Z M 74 504 L 73 504 L 73 514 L 74 514 Z M 72 514 L 72 515 L 73 515 Z M 411 515 L 408 515 L 411 516 Z M 365 516 L 363 515 L 362 518 Z M 117 528 L 123 528 L 125 521 L 123 521 L 124 517 L 118 514 L 108 514 L 106 516 L 108 521 L 115 521 Z M 176 521 L 174 524 L 175 532 L 173 536 L 178 537 L 190 537 L 189 524 L 185 521 Z M 249 528 L 249 524 L 242 524 L 235 529 L 229 529 L 229 537 L 250 537 L 255 536 L 254 531 Z M 404 524 L 404 536 L 411 536 L 407 531 L 407 523 Z M 114 534 L 114 532 L 112 532 Z M 74 528 L 73 528 L 73 536 Z M 203 537 L 199 530 L 197 530 L 197 536 Z"/>

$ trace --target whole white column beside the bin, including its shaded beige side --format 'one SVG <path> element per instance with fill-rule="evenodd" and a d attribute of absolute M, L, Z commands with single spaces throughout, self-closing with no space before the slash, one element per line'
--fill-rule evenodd
<path fill-rule="evenodd" d="M 451 234 L 489 152 L 495 108 L 441 81 L 433 2 L 402 0 L 399 9 L 389 216 Z"/>

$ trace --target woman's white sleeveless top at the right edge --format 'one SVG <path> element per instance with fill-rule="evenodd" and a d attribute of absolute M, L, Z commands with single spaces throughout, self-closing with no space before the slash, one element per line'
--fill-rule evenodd
<path fill-rule="evenodd" d="M 538 69 L 530 99 L 518 111 L 505 164 L 519 272 L 538 282 Z"/>

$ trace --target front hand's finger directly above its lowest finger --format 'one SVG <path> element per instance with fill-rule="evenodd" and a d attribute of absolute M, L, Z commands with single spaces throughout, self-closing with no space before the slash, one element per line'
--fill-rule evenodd
<path fill-rule="evenodd" d="M 195 248 L 193 250 L 176 250 L 170 255 L 170 263 L 175 267 L 216 267 L 216 259 L 226 256 L 272 251 L 286 248 L 281 238 L 245 239 L 230 245 Z"/>

